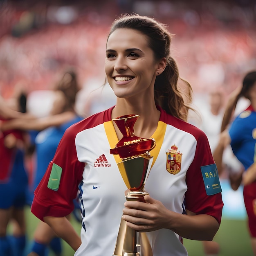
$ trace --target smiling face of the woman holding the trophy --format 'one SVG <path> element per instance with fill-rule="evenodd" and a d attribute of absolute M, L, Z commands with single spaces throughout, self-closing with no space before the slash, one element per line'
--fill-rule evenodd
<path fill-rule="evenodd" d="M 105 72 L 119 98 L 153 93 L 159 62 L 147 36 L 134 29 L 116 29 L 108 38 Z"/>

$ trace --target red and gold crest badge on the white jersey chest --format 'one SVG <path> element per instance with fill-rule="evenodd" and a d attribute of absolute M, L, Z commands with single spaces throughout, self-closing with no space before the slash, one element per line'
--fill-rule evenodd
<path fill-rule="evenodd" d="M 168 173 L 177 174 L 180 172 L 182 153 L 177 151 L 178 147 L 171 146 L 171 150 L 166 152 L 166 170 Z"/>

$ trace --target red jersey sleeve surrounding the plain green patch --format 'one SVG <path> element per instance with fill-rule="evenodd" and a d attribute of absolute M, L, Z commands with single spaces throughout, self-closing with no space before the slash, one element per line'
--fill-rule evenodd
<path fill-rule="evenodd" d="M 74 209 L 73 199 L 82 181 L 85 163 L 77 159 L 76 132 L 70 128 L 63 135 L 52 162 L 34 192 L 31 212 L 40 220 L 45 216 L 64 217 Z M 55 190 L 47 187 L 53 166 L 61 169 L 59 186 Z"/>

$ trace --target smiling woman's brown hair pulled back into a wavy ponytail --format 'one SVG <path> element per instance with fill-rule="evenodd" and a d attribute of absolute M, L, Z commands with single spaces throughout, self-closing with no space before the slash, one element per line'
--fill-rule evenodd
<path fill-rule="evenodd" d="M 109 36 L 116 29 L 124 28 L 135 29 L 148 36 L 148 45 L 153 50 L 155 59 L 166 58 L 166 68 L 162 74 L 157 76 L 154 85 L 155 103 L 168 114 L 186 121 L 187 112 L 191 109 L 189 103 L 192 101 L 192 88 L 187 81 L 182 79 L 189 88 L 189 95 L 187 95 L 189 101 L 185 103 L 182 93 L 177 87 L 177 81 L 180 78 L 177 64 L 170 56 L 173 35 L 168 32 L 166 25 L 153 18 L 137 14 L 122 14 L 121 18 L 117 18 L 112 23 Z"/>

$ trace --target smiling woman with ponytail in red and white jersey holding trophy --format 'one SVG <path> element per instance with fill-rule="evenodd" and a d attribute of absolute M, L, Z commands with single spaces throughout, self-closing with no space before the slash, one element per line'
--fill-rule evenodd
<path fill-rule="evenodd" d="M 167 29 L 152 18 L 128 15 L 113 23 L 105 71 L 116 105 L 67 129 L 35 191 L 32 213 L 65 239 L 76 256 L 112 255 L 121 217 L 129 227 L 146 232 L 154 256 L 187 255 L 182 237 L 212 240 L 219 228 L 221 189 L 207 195 L 203 180 L 212 170 L 209 165 L 215 170 L 215 164 L 206 135 L 182 121 L 188 106 L 177 89 L 179 74 L 169 55 L 170 43 Z M 122 137 L 112 119 L 129 114 L 139 115 L 135 135 L 153 137 L 157 144 L 151 151 L 154 162 L 145 202 L 125 202 L 127 188 L 110 154 Z M 166 152 L 174 144 L 183 153 L 176 175 L 166 170 Z M 105 164 L 98 164 L 100 159 Z M 65 218 L 78 186 L 81 238 Z"/>

